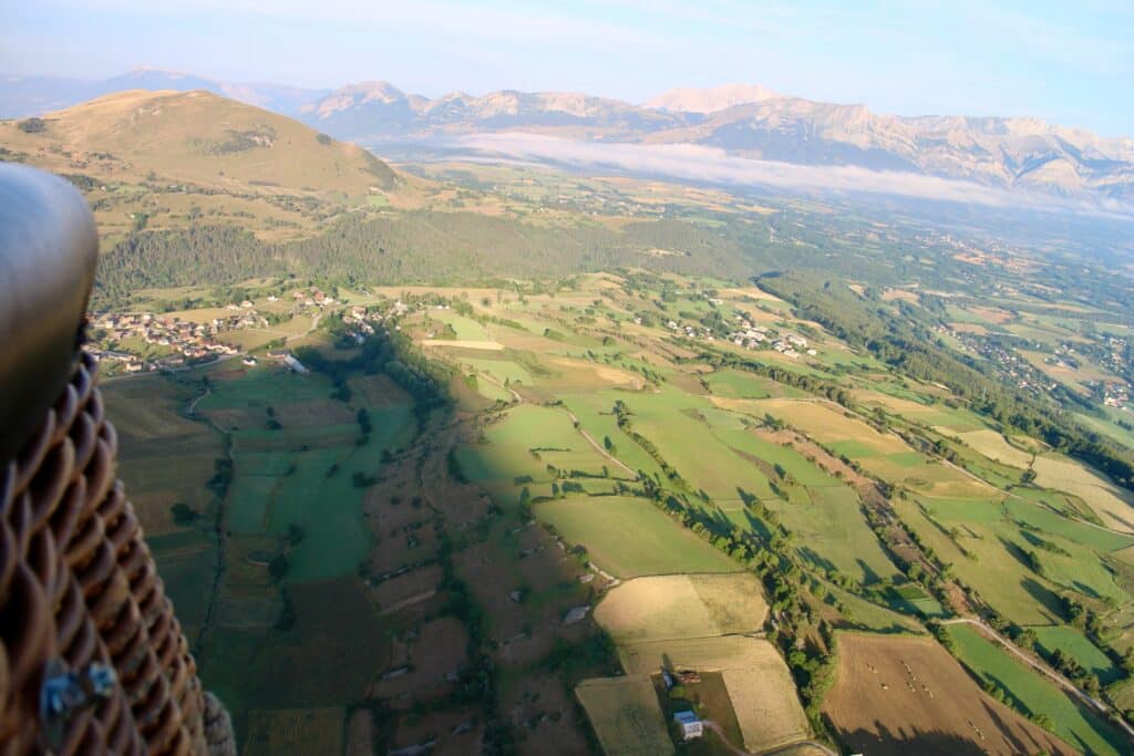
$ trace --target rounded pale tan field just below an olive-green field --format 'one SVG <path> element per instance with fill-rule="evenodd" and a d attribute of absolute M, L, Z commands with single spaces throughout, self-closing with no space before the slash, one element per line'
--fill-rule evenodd
<path fill-rule="evenodd" d="M 635 578 L 610 591 L 594 619 L 616 643 L 631 644 L 753 632 L 767 614 L 760 581 L 738 572 Z"/>

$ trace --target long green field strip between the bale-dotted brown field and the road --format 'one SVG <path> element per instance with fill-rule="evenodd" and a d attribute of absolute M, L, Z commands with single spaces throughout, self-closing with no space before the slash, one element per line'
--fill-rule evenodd
<path fill-rule="evenodd" d="M 950 626 L 957 656 L 981 680 L 992 682 L 1018 706 L 1043 714 L 1074 749 L 1093 754 L 1125 753 L 1126 742 L 1109 724 L 1038 672 L 970 626 Z"/>

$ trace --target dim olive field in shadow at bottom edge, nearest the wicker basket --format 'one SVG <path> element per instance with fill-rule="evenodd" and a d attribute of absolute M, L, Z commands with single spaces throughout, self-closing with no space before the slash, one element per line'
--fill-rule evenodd
<path fill-rule="evenodd" d="M 245 756 L 338 754 L 342 750 L 342 716 L 339 707 L 254 711 L 240 753 Z"/>

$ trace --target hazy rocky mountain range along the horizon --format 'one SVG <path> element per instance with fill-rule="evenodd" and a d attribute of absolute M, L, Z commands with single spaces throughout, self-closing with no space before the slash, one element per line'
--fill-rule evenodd
<path fill-rule="evenodd" d="M 761 86 L 672 90 L 643 104 L 565 92 L 425 97 L 386 82 L 338 90 L 228 84 L 143 69 L 101 82 L 0 79 L 0 117 L 26 117 L 120 90 L 208 90 L 371 147 L 482 133 L 696 144 L 804 165 L 854 165 L 1070 197 L 1134 201 L 1134 141 L 1031 118 L 900 117 Z"/>

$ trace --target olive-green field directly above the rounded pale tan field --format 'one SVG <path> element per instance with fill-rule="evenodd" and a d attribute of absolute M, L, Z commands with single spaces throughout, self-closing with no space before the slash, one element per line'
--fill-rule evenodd
<path fill-rule="evenodd" d="M 536 504 L 535 515 L 569 543 L 584 544 L 587 557 L 616 577 L 741 570 L 644 499 L 569 496 Z"/>

